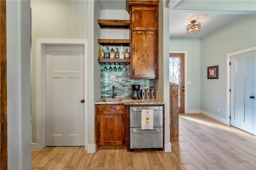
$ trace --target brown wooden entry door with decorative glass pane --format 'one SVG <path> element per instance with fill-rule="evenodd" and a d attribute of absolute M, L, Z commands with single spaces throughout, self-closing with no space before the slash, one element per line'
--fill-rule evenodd
<path fill-rule="evenodd" d="M 179 85 L 179 113 L 184 113 L 184 55 L 184 53 L 170 53 L 169 55 L 169 80 Z"/>

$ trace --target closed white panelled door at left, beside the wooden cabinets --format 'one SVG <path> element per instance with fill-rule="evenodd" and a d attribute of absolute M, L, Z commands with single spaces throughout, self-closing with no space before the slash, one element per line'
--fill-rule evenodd
<path fill-rule="evenodd" d="M 46 45 L 46 146 L 84 146 L 84 46 Z"/>

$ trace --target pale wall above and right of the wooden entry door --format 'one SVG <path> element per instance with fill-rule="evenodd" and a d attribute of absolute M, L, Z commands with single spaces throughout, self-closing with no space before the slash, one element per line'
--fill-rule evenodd
<path fill-rule="evenodd" d="M 185 113 L 200 113 L 201 109 L 201 40 L 170 39 L 170 51 L 186 51 Z M 191 84 L 187 84 L 191 81 Z"/>

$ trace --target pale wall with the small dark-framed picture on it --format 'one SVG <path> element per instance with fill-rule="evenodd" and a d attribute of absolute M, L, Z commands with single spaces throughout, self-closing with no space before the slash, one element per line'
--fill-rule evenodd
<path fill-rule="evenodd" d="M 226 54 L 256 45 L 256 15 L 244 15 L 201 40 L 201 110 L 222 121 L 226 119 Z M 219 65 L 219 79 L 207 79 L 207 67 Z M 220 108 L 220 112 L 217 111 Z"/>

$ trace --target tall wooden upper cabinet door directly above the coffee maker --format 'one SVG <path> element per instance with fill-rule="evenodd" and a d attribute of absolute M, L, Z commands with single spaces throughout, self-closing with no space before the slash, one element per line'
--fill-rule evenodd
<path fill-rule="evenodd" d="M 158 78 L 158 38 L 156 31 L 132 31 L 131 79 Z"/>

